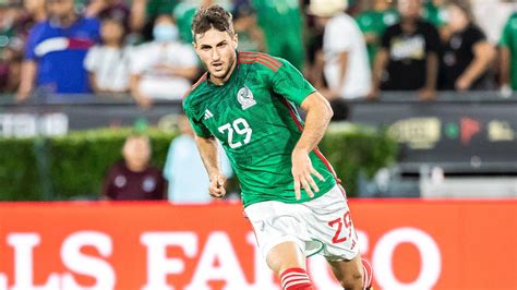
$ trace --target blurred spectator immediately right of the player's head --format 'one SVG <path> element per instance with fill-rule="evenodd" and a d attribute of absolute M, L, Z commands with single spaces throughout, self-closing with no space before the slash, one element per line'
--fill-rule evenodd
<path fill-rule="evenodd" d="M 239 35 L 239 51 L 266 51 L 264 33 L 257 26 L 254 9 L 247 1 L 233 8 L 233 28 Z"/>

